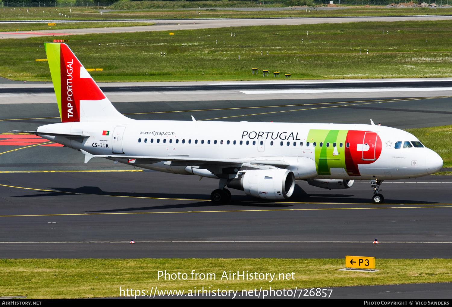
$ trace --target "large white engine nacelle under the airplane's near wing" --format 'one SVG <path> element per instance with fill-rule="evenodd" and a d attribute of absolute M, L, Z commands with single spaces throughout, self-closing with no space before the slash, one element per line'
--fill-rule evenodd
<path fill-rule="evenodd" d="M 295 176 L 282 168 L 253 169 L 247 170 L 241 178 L 233 179 L 227 186 L 265 200 L 283 200 L 292 196 Z"/>

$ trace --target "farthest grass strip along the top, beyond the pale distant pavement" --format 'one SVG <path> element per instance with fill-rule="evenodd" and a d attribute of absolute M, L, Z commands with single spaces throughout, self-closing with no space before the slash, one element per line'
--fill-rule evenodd
<path fill-rule="evenodd" d="M 128 6 L 120 6 L 122 2 L 133 3 L 135 10 L 120 10 L 108 13 L 99 13 L 99 9 L 125 9 Z M 140 2 L 143 3 L 140 6 Z M 176 4 L 187 3 L 193 10 L 182 9 L 155 9 L 148 5 L 158 5 L 159 2 Z M 208 2 L 208 1 L 207 1 Z M 452 2 L 451 2 L 452 3 Z M 393 8 L 381 7 L 353 7 L 340 10 L 290 10 L 285 11 L 228 11 L 228 10 L 202 10 L 196 14 L 195 2 L 191 1 L 120 1 L 110 7 L 0 7 L 0 20 L 56 20 L 56 19 L 197 19 L 197 18 L 268 18 L 268 17 L 340 17 L 340 16 L 399 16 L 399 15 L 447 15 L 452 14 L 452 9 L 429 8 Z M 115 6 L 118 5 L 118 6 Z M 200 6 L 201 7 L 201 6 Z M 205 6 L 202 6 L 205 7 Z M 153 8 L 153 6 L 151 7 Z M 137 10 L 142 9 L 142 10 Z M 59 15 L 62 14 L 62 15 Z M 66 16 L 65 16 L 66 15 Z M 175 18 L 174 18 L 175 17 Z"/>

